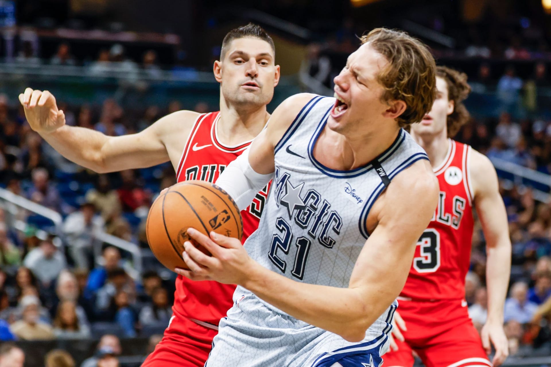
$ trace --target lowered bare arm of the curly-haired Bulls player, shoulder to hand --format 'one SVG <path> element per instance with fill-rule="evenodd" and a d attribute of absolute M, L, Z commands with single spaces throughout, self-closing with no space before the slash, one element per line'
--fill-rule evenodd
<path fill-rule="evenodd" d="M 477 210 L 486 240 L 486 282 L 488 288 L 488 319 L 480 336 L 488 353 L 494 344 L 494 366 L 502 364 L 509 355 L 509 344 L 503 330 L 503 308 L 511 273 L 511 240 L 507 213 L 499 194 L 498 176 L 490 160 L 471 150 L 468 162 Z"/>

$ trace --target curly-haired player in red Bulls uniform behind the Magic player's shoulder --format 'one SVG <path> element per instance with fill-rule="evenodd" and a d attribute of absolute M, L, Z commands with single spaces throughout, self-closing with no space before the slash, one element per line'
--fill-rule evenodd
<path fill-rule="evenodd" d="M 487 357 L 492 343 L 496 350 L 493 365 L 497 366 L 509 354 L 503 331 L 511 270 L 505 206 L 488 158 L 451 139 L 469 118 L 462 103 L 470 91 L 467 76 L 437 67 L 436 88 L 433 108 L 422 122 L 412 125 L 411 134 L 430 158 L 440 184 L 440 201 L 417 243 L 408 280 L 398 298 L 399 315 L 395 315 L 392 331 L 396 344 L 383 360 L 387 367 L 410 367 L 413 350 L 427 367 L 487 367 L 492 365 Z M 464 300 L 473 209 L 482 222 L 488 255 L 488 320 L 482 328 L 482 341 Z"/>

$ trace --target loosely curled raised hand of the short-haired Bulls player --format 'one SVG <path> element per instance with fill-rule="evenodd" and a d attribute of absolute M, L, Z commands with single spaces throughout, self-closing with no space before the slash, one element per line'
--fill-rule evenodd
<path fill-rule="evenodd" d="M 51 133 L 65 124 L 65 114 L 57 108 L 56 98 L 47 90 L 25 89 L 19 95 L 25 117 L 31 129 L 38 133 Z"/>

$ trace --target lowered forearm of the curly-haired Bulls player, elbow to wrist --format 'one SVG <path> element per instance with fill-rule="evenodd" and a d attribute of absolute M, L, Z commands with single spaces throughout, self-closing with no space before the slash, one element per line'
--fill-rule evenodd
<path fill-rule="evenodd" d="M 503 308 L 511 273 L 511 242 L 504 234 L 487 247 L 486 283 L 488 286 L 488 322 L 503 324 Z"/>

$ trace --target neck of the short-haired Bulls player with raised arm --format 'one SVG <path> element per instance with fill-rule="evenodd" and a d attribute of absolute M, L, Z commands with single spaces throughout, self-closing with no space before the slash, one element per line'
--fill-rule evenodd
<path fill-rule="evenodd" d="M 219 139 L 226 145 L 252 140 L 260 134 L 269 117 L 266 106 L 236 108 L 220 103 L 220 120 L 217 125 Z"/>

